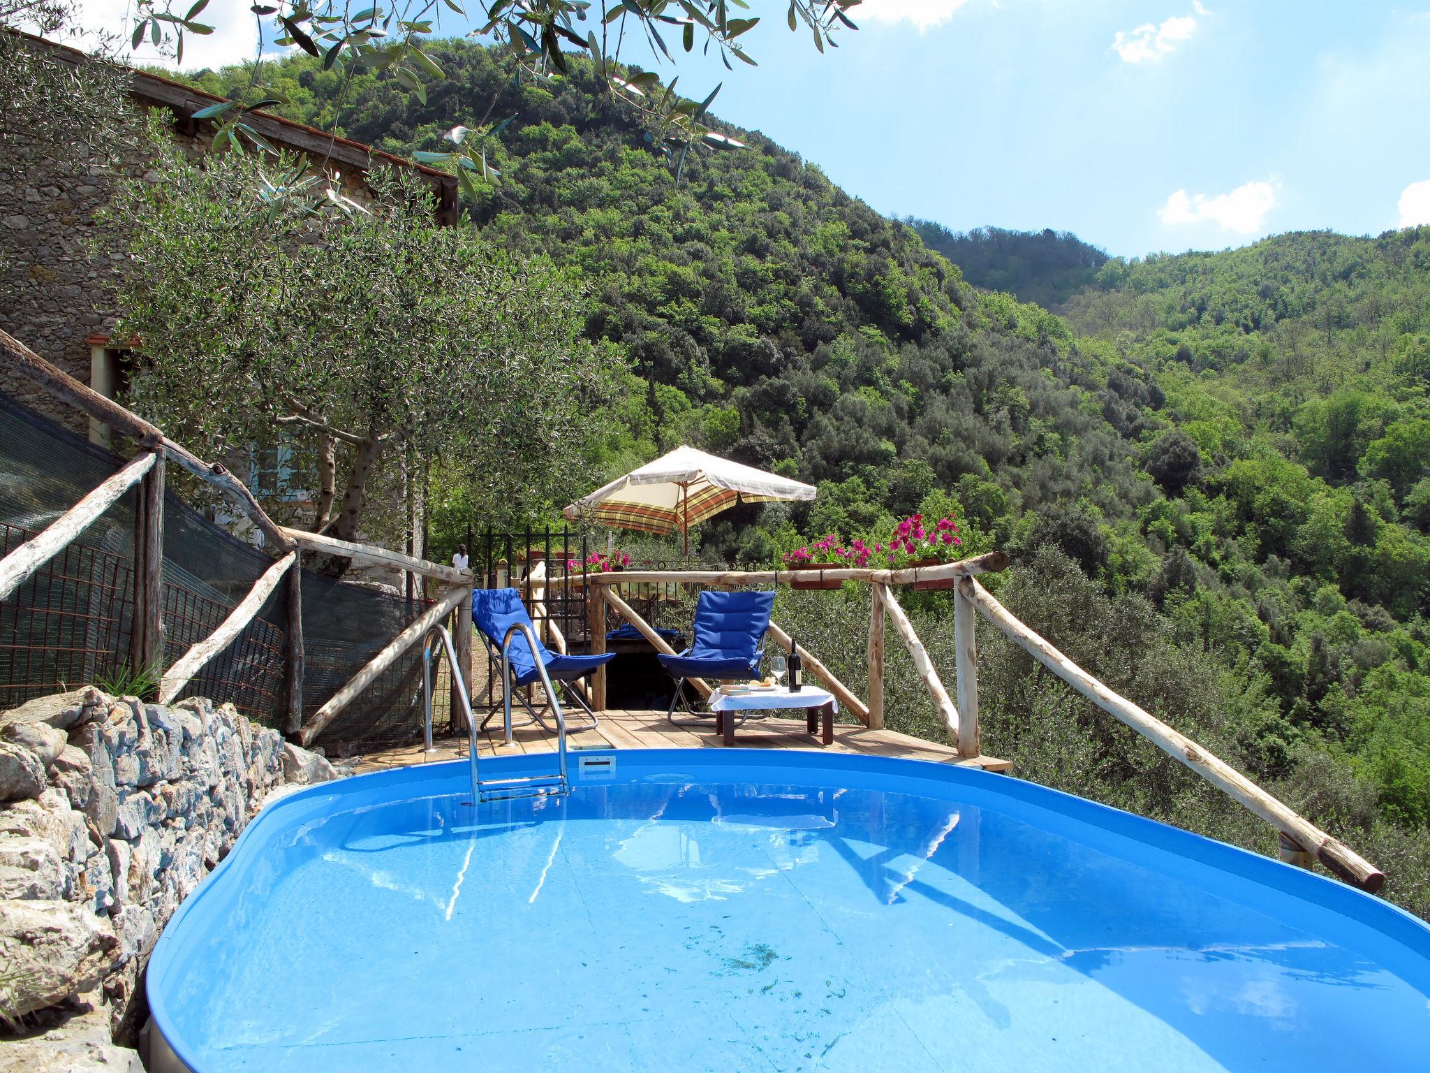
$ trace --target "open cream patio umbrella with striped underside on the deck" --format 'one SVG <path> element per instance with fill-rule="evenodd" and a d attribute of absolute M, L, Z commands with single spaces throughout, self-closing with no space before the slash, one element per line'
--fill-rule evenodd
<path fill-rule="evenodd" d="M 734 506 L 776 499 L 814 499 L 812 485 L 764 469 L 678 446 L 625 476 L 598 488 L 565 509 L 572 521 L 595 521 L 641 532 L 685 534 L 691 554 L 691 526 Z"/>

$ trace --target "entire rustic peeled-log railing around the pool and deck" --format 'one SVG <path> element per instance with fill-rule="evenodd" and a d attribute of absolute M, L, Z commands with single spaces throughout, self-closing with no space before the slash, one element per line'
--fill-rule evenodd
<path fill-rule="evenodd" d="M 342 708 L 368 688 L 388 667 L 390 667 L 403 652 L 416 644 L 433 625 L 449 614 L 456 612 L 456 629 L 453 637 L 458 648 L 458 665 L 460 678 L 472 681 L 472 574 L 456 571 L 435 562 L 388 551 L 365 544 L 333 539 L 319 534 L 302 532 L 299 529 L 283 528 L 273 522 L 263 511 L 253 494 L 242 481 L 227 472 L 222 465 L 212 465 L 192 455 L 186 448 L 166 438 L 163 432 L 152 423 L 124 409 L 112 399 L 99 395 L 79 381 L 67 376 L 33 351 L 17 342 L 11 336 L 0 332 L 0 356 L 17 373 L 50 392 L 56 398 L 74 405 L 90 418 L 110 425 L 116 432 L 129 436 L 140 444 L 142 452 L 119 472 L 107 478 L 93 492 L 86 495 L 70 511 L 61 515 L 44 532 L 21 545 L 3 561 L 0 561 L 0 599 L 14 592 L 40 565 L 63 551 L 87 525 L 112 506 L 117 499 L 136 484 L 140 485 L 140 502 L 136 512 L 134 526 L 134 628 L 133 628 L 133 658 L 136 667 L 163 671 L 163 622 L 160 618 L 160 581 L 163 565 L 163 489 L 164 489 L 164 461 L 173 459 L 182 468 L 194 474 L 200 479 L 219 488 L 233 499 L 253 525 L 263 532 L 267 544 L 277 554 L 277 562 L 270 567 L 255 584 L 253 589 L 229 614 L 219 628 L 204 641 L 193 645 L 166 674 L 162 675 L 160 697 L 173 698 L 192 677 L 222 651 L 247 622 L 257 615 L 263 602 L 286 577 L 289 579 L 289 618 L 287 618 L 287 668 L 286 668 L 286 718 L 285 728 L 299 737 L 303 744 L 312 741 L 332 722 Z M 303 548 L 327 555 L 340 555 L 353 562 L 390 567 L 410 571 L 436 581 L 446 582 L 446 592 L 426 611 L 418 621 L 399 632 L 378 655 L 375 655 L 350 681 L 335 692 L 315 714 L 313 720 L 303 725 L 303 629 L 302 629 L 302 571 L 299 555 Z M 975 612 L 981 612 L 995 628 L 1008 635 L 1015 644 L 1027 651 L 1034 660 L 1047 667 L 1052 674 L 1065 681 L 1095 705 L 1127 724 L 1148 741 L 1155 744 L 1168 755 L 1187 765 L 1198 775 L 1210 781 L 1234 801 L 1261 817 L 1280 833 L 1281 857 L 1284 860 L 1308 864 L 1318 860 L 1340 878 L 1376 891 L 1384 883 L 1384 874 L 1356 854 L 1350 847 L 1317 828 L 1311 821 L 1298 815 L 1284 803 L 1243 775 L 1240 771 L 1213 755 L 1207 750 L 1175 730 L 1161 722 L 1133 701 L 1114 692 L 1093 675 L 1087 674 L 1062 652 L 1038 637 L 1024 622 L 1018 621 L 992 594 L 990 594 L 975 579 L 981 574 L 1005 569 L 1008 558 L 1002 552 L 988 552 L 960 562 L 940 564 L 935 567 L 917 567 L 907 569 L 867 569 L 867 568 L 829 568 L 818 571 L 821 579 L 854 581 L 868 584 L 872 588 L 872 607 L 869 614 L 868 637 L 868 700 L 859 698 L 845 687 L 822 662 L 814 658 L 801 647 L 801 654 L 809 667 L 811 674 L 818 678 L 841 704 L 854 712 L 868 727 L 884 725 L 884 638 L 887 622 L 892 619 L 895 632 L 908 650 L 914 665 L 922 678 L 934 708 L 948 733 L 950 740 L 957 745 L 958 755 L 964 763 L 978 764 L 984 757 L 980 754 L 978 735 L 978 665 L 977 647 L 974 641 Z M 809 581 L 812 571 L 623 571 L 612 574 L 583 574 L 565 578 L 571 587 L 586 585 L 598 591 L 589 594 L 586 599 L 588 632 L 592 652 L 605 651 L 605 612 L 606 607 L 613 608 L 628 619 L 651 644 L 664 652 L 671 647 L 619 594 L 622 584 L 702 584 L 718 587 L 791 584 L 795 579 Z M 955 691 L 957 704 L 948 695 L 928 651 L 914 632 L 914 627 L 904 614 L 894 587 L 908 585 L 919 581 L 954 581 L 954 660 L 955 660 Z M 526 595 L 529 599 L 541 601 L 549 579 L 528 578 Z M 781 644 L 789 645 L 789 635 L 778 625 L 771 624 L 771 635 Z M 561 645 L 561 641 L 552 638 Z M 562 638 L 563 641 L 563 638 Z M 562 645 L 563 647 L 563 645 Z M 696 682 L 696 688 L 709 694 L 706 682 Z M 458 678 L 453 675 L 452 708 L 453 724 L 459 697 L 456 695 Z M 598 670 L 591 677 L 589 687 L 591 707 L 601 711 L 606 707 L 606 671 Z"/>

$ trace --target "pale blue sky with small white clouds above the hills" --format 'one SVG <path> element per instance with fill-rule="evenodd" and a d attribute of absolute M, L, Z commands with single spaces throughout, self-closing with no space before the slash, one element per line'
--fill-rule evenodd
<path fill-rule="evenodd" d="M 127 3 L 83 0 L 112 27 Z M 1430 223 L 1430 0 L 864 0 L 824 54 L 749 4 L 758 67 L 622 59 L 696 99 L 724 83 L 715 114 L 884 213 L 1120 256 Z M 247 4 L 204 19 L 186 67 L 252 57 Z"/>

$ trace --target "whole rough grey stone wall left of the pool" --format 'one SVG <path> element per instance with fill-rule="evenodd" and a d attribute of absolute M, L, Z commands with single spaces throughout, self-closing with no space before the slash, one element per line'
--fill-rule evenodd
<path fill-rule="evenodd" d="M 336 775 L 206 700 L 94 688 L 0 714 L 0 1070 L 140 1069 L 143 969 L 263 800 Z M 92 1064 L 84 1064 L 92 1063 Z M 127 1063 L 127 1064 L 126 1064 Z"/>

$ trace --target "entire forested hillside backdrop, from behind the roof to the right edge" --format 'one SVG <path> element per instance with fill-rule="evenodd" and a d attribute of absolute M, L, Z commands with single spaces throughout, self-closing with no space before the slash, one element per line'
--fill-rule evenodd
<path fill-rule="evenodd" d="M 1022 564 L 1010 591 L 1034 627 L 1430 907 L 1430 229 L 1133 263 L 1055 233 L 951 236 L 968 276 L 1058 302 L 1054 316 L 975 289 L 759 134 L 716 123 L 749 149 L 694 153 L 676 180 L 599 93 L 518 86 L 473 46 L 433 54 L 449 79 L 425 102 L 306 57 L 266 64 L 262 87 L 249 70 L 200 84 L 282 97 L 319 126 L 336 114 L 395 152 L 513 117 L 489 149 L 500 180 L 466 207 L 489 237 L 578 266 L 588 332 L 631 362 L 592 484 L 682 441 L 818 482 L 812 506 L 704 526 L 705 555 L 742 561 L 957 514 L 965 547 Z M 845 622 L 831 607 L 799 612 L 811 635 L 858 637 L 858 608 Z M 829 657 L 851 681 L 859 645 Z M 1135 672 L 1138 645 L 1155 675 Z M 990 753 L 1267 848 L 1226 801 L 1183 793 L 1170 761 L 988 651 Z M 899 718 L 932 730 L 917 702 Z"/>

